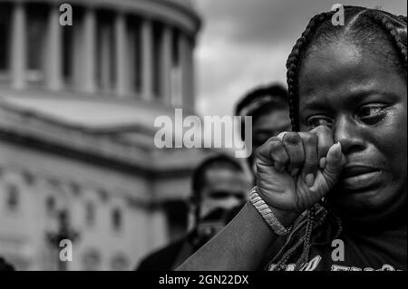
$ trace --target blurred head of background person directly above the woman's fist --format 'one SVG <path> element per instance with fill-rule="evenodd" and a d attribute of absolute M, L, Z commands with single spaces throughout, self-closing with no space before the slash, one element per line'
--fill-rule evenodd
<path fill-rule="evenodd" d="M 291 130 L 287 89 L 281 84 L 259 86 L 238 102 L 235 115 L 241 116 L 241 140 L 244 140 L 244 117 L 252 117 L 252 148 L 248 165 L 255 174 L 254 154 L 269 138 Z"/>

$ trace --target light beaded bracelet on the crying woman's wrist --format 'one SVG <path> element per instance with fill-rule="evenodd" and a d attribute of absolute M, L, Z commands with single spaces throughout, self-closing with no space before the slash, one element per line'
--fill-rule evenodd
<path fill-rule="evenodd" d="M 257 194 L 257 187 L 251 189 L 248 194 L 248 198 L 251 204 L 257 209 L 259 214 L 264 218 L 264 220 L 267 222 L 267 225 L 272 228 L 275 234 L 277 234 L 278 236 L 285 236 L 289 234 L 292 226 L 287 229 L 279 222 L 277 217 L 275 217 L 272 210 L 267 206 L 262 197 L 259 197 L 259 195 Z"/>

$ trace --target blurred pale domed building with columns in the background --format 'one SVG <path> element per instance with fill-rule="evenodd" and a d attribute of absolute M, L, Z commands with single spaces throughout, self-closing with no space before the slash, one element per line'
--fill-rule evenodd
<path fill-rule="evenodd" d="M 153 142 L 157 116 L 194 114 L 199 15 L 187 0 L 71 0 L 61 25 L 61 4 L 0 0 L 0 255 L 61 269 L 63 214 L 77 233 L 64 269 L 130 270 L 184 230 L 206 155 Z"/>

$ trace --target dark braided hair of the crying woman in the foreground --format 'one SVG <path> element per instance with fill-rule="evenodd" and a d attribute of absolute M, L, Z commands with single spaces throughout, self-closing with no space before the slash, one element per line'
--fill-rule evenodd
<path fill-rule="evenodd" d="M 289 94 L 289 112 L 292 129 L 300 130 L 299 121 L 299 96 L 298 96 L 298 76 L 302 61 L 306 58 L 308 50 L 317 43 L 328 42 L 334 37 L 341 36 L 352 39 L 355 43 L 367 45 L 379 40 L 389 45 L 384 53 L 384 46 L 377 49 L 374 53 L 382 53 L 380 59 L 392 62 L 398 72 L 401 72 L 406 79 L 407 66 L 407 20 L 406 16 L 397 16 L 389 14 L 382 10 L 368 9 L 360 6 L 345 6 L 345 25 L 335 26 L 331 19 L 335 11 L 316 14 L 307 24 L 306 30 L 297 40 L 292 52 L 287 59 L 287 87 Z M 370 49 L 375 50 L 375 45 L 370 45 Z M 396 57 L 395 57 L 396 56 Z M 325 214 L 316 218 L 316 208 L 324 205 Z M 341 220 L 335 216 L 333 208 L 328 207 L 326 203 L 320 203 L 311 207 L 307 211 L 306 227 L 304 236 L 300 237 L 296 243 L 287 250 L 284 248 L 281 252 L 286 252 L 278 259 L 277 265 L 273 270 L 284 270 L 289 258 L 296 254 L 298 248 L 303 245 L 303 252 L 296 262 L 295 270 L 302 270 L 308 260 L 311 247 L 311 236 L 319 226 L 325 222 L 328 213 L 335 217 L 338 224 L 338 231 L 335 236 L 339 236 L 342 231 Z M 290 244 L 290 243 L 289 243 Z"/>

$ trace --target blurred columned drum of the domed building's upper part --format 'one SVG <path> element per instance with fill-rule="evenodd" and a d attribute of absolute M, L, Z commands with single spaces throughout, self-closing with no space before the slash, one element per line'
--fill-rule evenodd
<path fill-rule="evenodd" d="M 200 20 L 190 1 L 73 0 L 72 25 L 60 24 L 59 4 L 0 2 L 0 87 L 193 108 Z"/>

